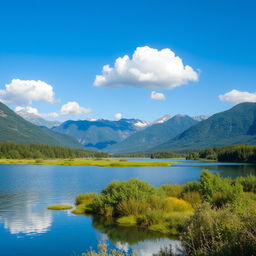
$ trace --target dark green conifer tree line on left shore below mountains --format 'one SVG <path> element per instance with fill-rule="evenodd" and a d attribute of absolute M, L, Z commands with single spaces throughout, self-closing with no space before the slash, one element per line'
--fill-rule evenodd
<path fill-rule="evenodd" d="M 47 145 L 24 145 L 11 142 L 0 143 L 0 158 L 7 159 L 51 159 L 51 158 L 102 158 L 108 153 L 92 152 Z"/>

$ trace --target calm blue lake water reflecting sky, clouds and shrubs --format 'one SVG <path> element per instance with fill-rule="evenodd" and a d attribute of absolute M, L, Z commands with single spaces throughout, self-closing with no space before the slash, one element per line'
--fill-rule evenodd
<path fill-rule="evenodd" d="M 160 186 L 196 180 L 203 169 L 224 177 L 256 174 L 255 165 L 175 161 L 179 163 L 171 167 L 0 165 L 0 255 L 74 256 L 99 242 L 143 256 L 170 244 L 175 249 L 178 240 L 157 232 L 46 207 L 74 204 L 77 194 L 100 192 L 114 179 L 138 178 Z"/>

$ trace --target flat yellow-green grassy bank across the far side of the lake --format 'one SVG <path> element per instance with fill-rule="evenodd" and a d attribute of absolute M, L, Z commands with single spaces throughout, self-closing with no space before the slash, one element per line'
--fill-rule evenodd
<path fill-rule="evenodd" d="M 0 159 L 0 164 L 99 166 L 99 167 L 154 167 L 171 166 L 173 162 L 126 161 L 115 159 Z"/>

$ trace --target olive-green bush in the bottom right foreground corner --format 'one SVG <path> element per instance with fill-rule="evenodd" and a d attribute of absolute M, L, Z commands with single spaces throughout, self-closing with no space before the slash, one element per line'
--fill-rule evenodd
<path fill-rule="evenodd" d="M 255 205 L 254 205 L 255 208 Z M 239 216 L 231 207 L 202 204 L 183 234 L 185 255 L 255 255 L 256 215 L 244 208 Z"/>

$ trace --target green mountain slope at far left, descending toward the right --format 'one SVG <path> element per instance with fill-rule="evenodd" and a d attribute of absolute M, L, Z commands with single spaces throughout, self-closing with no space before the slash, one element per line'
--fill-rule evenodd
<path fill-rule="evenodd" d="M 0 102 L 0 142 L 60 145 L 39 127 L 26 121 Z"/>

